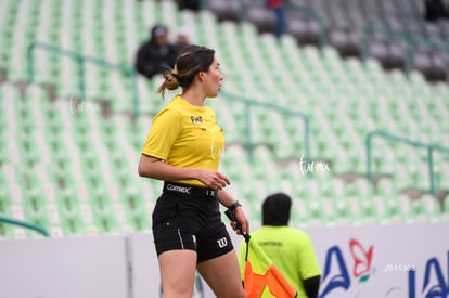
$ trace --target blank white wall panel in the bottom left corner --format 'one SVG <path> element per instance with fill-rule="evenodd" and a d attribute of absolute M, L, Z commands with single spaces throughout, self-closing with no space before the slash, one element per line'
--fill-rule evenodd
<path fill-rule="evenodd" d="M 130 297 L 125 236 L 0 241 L 0 298 Z"/>

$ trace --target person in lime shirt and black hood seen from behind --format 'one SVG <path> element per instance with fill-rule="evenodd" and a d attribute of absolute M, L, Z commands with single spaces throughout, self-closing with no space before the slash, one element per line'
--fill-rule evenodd
<path fill-rule="evenodd" d="M 252 232 L 251 242 L 257 243 L 288 284 L 296 289 L 296 297 L 318 297 L 320 265 L 310 237 L 304 231 L 288 226 L 291 207 L 292 199 L 284 193 L 268 196 L 262 204 L 262 226 Z M 251 254 L 249 250 L 248 255 Z M 242 278 L 245 274 L 245 255 L 246 244 L 242 242 L 239 251 Z M 262 268 L 259 264 L 253 267 Z M 274 296 L 266 290 L 261 297 Z"/>

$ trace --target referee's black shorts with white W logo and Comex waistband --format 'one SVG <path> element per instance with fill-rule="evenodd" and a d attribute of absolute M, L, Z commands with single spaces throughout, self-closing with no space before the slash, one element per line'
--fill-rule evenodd
<path fill-rule="evenodd" d="M 217 198 L 164 190 L 153 211 L 157 256 L 168 250 L 190 249 L 196 251 L 196 262 L 202 262 L 233 249 Z"/>

